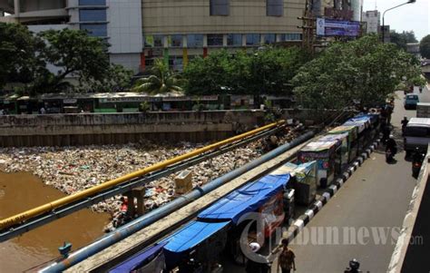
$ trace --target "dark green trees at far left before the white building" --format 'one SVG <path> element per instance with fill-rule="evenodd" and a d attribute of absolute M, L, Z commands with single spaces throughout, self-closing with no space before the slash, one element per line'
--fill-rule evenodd
<path fill-rule="evenodd" d="M 64 81 L 68 76 L 79 79 L 79 91 L 128 88 L 132 72 L 109 63 L 108 46 L 103 39 L 79 30 L 34 35 L 22 24 L 0 23 L 0 88 L 21 83 L 16 89 L 23 94 L 76 91 Z M 57 73 L 49 72 L 47 63 L 58 67 Z"/>

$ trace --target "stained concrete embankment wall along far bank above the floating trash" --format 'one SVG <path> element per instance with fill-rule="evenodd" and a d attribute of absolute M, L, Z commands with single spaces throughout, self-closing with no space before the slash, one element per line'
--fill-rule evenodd
<path fill-rule="evenodd" d="M 137 112 L 0 116 L 0 147 L 152 141 L 215 141 L 264 124 L 265 112 Z M 333 112 L 286 110 L 284 118 L 321 122 Z"/>

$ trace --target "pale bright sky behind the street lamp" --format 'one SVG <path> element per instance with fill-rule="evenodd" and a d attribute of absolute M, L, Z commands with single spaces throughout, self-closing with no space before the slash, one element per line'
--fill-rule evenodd
<path fill-rule="evenodd" d="M 375 10 L 382 14 L 386 9 L 406 3 L 407 0 L 364 0 L 363 11 Z M 407 4 L 386 12 L 385 24 L 390 25 L 396 32 L 415 32 L 418 42 L 430 34 L 430 0 L 416 0 L 414 4 Z"/>

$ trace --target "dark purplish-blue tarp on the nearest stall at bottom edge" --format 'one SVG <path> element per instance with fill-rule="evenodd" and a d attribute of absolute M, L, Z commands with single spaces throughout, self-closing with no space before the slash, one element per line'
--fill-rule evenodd
<path fill-rule="evenodd" d="M 142 267 L 142 265 L 150 262 L 151 259 L 156 258 L 166 244 L 167 241 L 152 246 L 149 249 L 144 249 L 143 251 L 133 255 L 132 258 L 129 258 L 126 261 L 122 262 L 122 264 L 120 264 L 116 268 L 112 268 L 109 272 L 130 272 L 138 267 Z"/>

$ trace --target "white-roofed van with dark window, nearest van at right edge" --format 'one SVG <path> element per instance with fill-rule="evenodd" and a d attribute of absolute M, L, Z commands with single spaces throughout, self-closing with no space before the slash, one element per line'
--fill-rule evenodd
<path fill-rule="evenodd" d="M 410 154 L 416 147 L 427 151 L 430 142 L 430 119 L 411 118 L 405 130 L 405 151 Z"/>

